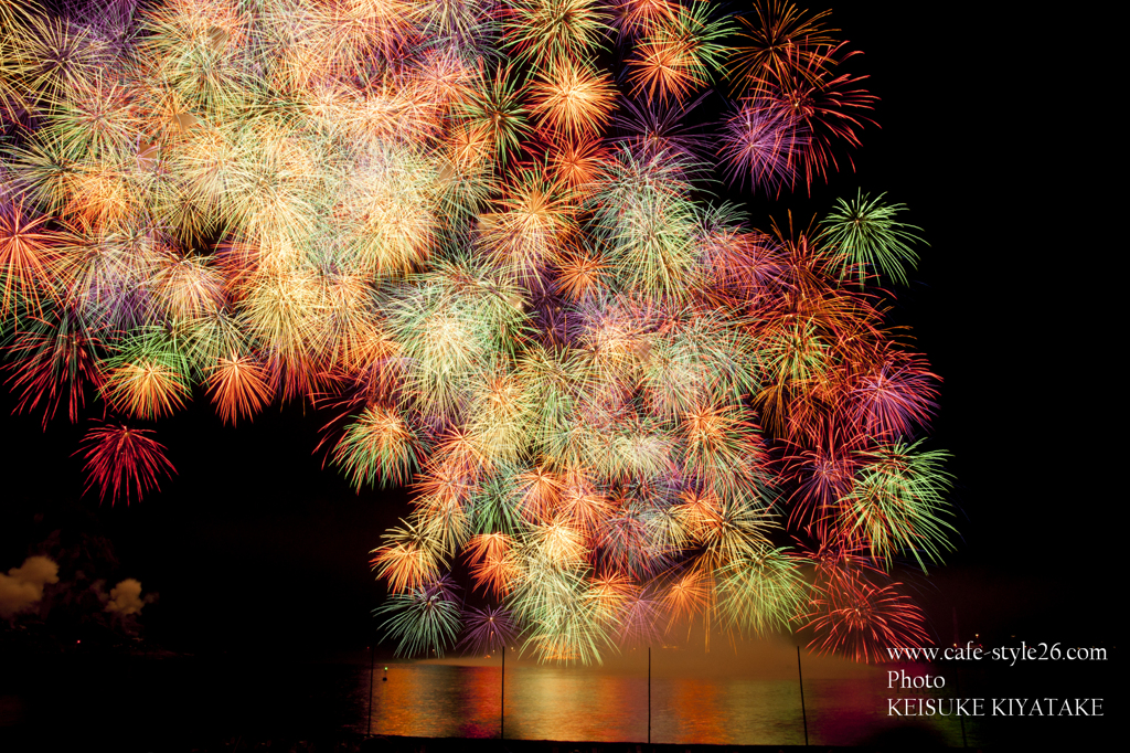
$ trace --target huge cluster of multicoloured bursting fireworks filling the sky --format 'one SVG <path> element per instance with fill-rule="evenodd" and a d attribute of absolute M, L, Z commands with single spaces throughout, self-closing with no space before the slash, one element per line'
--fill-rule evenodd
<path fill-rule="evenodd" d="M 373 557 L 408 652 L 588 663 L 692 623 L 918 644 L 886 572 L 947 546 L 914 436 L 937 379 L 873 287 L 915 228 L 857 194 L 765 234 L 709 193 L 850 158 L 873 97 L 827 20 L 0 0 L 9 386 L 45 423 L 98 401 L 81 451 L 125 501 L 172 469 L 136 422 L 194 391 L 232 424 L 325 410 L 358 487 L 415 490 Z"/>

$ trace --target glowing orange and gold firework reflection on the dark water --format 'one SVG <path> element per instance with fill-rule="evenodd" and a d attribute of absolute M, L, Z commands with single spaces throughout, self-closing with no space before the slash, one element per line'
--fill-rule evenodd
<path fill-rule="evenodd" d="M 501 667 L 389 665 L 374 684 L 373 732 L 420 737 L 497 737 Z M 367 691 L 367 687 L 365 689 Z M 801 745 L 796 681 L 662 677 L 652 680 L 655 743 Z M 805 682 L 809 743 L 853 745 L 898 725 L 887 692 L 872 678 Z M 962 745 L 956 719 L 933 719 L 945 744 Z M 506 668 L 506 737 L 593 742 L 647 739 L 647 678 L 593 670 Z M 972 741 L 971 741 L 972 742 Z"/>

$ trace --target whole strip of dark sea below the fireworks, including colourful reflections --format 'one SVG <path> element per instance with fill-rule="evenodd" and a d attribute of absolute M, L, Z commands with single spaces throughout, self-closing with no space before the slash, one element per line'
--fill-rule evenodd
<path fill-rule="evenodd" d="M 1009 668 L 1017 682 L 1000 673 L 942 669 L 945 687 L 902 689 L 892 673 L 921 677 L 939 668 L 858 665 L 796 647 L 710 656 L 641 649 L 588 667 L 539 664 L 513 651 L 505 669 L 498 655 L 408 660 L 365 650 L 26 657 L 0 667 L 0 750 L 23 750 L 11 741 L 27 744 L 62 730 L 68 739 L 121 751 L 162 750 L 154 741 L 169 738 L 327 738 L 342 732 L 719 745 L 873 747 L 893 741 L 903 750 L 1048 743 L 1081 750 L 1076 746 L 1107 734 L 1114 718 L 892 713 L 892 701 L 907 699 L 913 707 L 916 699 L 1096 690 L 1090 680 L 1069 682 L 1043 667 L 1027 677 Z M 1113 713 L 1113 700 L 1106 710 Z"/>

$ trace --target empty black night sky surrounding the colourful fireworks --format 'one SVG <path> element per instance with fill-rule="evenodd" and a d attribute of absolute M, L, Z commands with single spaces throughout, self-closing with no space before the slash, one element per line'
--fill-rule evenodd
<path fill-rule="evenodd" d="M 1110 298 L 1096 283 L 1112 276 L 1115 246 L 1103 219 L 1112 201 L 1086 172 L 1101 167 L 1079 165 L 1102 137 L 1071 120 L 1072 71 L 1036 58 L 1032 40 L 1054 31 L 1050 20 L 852 5 L 832 20 L 864 52 L 849 68 L 870 76 L 881 128 L 864 129 L 854 173 L 772 210 L 792 207 L 803 225 L 836 196 L 885 191 L 929 241 L 890 320 L 912 327 L 942 379 L 930 447 L 953 453 L 960 539 L 929 579 L 901 575 L 941 642 L 956 609 L 963 639 L 1110 646 L 1119 545 L 1104 529 L 1118 527 L 1121 401 Z M 750 204 L 750 224 L 767 230 L 768 208 Z M 97 577 L 159 595 L 140 623 L 167 648 L 370 642 L 384 589 L 368 552 L 408 512 L 407 494 L 358 494 L 323 468 L 312 451 L 324 416 L 276 404 L 233 429 L 198 390 L 191 409 L 156 425 L 177 475 L 111 507 L 82 495 L 72 453 L 84 424 L 56 418 L 44 432 L 40 415 L 10 416 L 14 400 L 0 399 L 0 570 L 53 530 L 101 536 L 116 563 L 104 559 Z"/>

